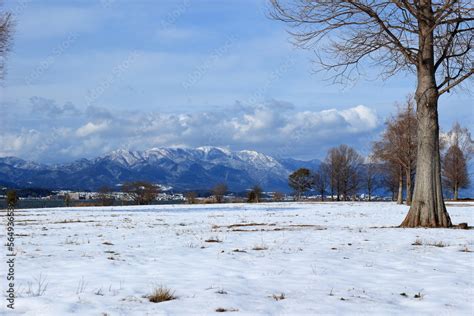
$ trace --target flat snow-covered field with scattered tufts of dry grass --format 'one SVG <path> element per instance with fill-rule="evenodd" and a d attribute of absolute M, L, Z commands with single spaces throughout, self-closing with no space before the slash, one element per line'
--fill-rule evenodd
<path fill-rule="evenodd" d="M 473 203 L 448 211 L 474 224 Z M 15 314 L 473 315 L 474 231 L 391 227 L 406 212 L 349 202 L 17 211 Z M 177 299 L 149 302 L 161 285 Z"/>

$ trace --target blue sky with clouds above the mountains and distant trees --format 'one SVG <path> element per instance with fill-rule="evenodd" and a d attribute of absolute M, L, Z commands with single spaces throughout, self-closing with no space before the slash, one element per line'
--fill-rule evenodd
<path fill-rule="evenodd" d="M 346 85 L 316 72 L 265 1 L 9 1 L 16 30 L 1 88 L 0 156 L 42 162 L 217 145 L 322 158 L 370 150 L 411 74 Z M 473 124 L 473 97 L 442 96 L 440 124 Z M 14 109 L 14 111 L 12 111 Z"/>

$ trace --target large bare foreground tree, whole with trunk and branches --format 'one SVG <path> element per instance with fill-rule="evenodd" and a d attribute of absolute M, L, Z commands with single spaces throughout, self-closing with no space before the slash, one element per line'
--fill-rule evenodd
<path fill-rule="evenodd" d="M 335 79 L 359 66 L 382 77 L 416 74 L 418 157 L 413 202 L 403 227 L 449 227 L 439 152 L 438 99 L 474 73 L 471 0 L 270 0 L 274 19 L 293 27 Z"/>

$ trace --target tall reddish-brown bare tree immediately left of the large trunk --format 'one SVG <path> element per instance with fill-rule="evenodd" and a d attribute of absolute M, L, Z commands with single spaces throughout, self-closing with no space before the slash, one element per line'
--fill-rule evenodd
<path fill-rule="evenodd" d="M 406 203 L 411 205 L 412 177 L 414 175 L 417 158 L 417 123 L 414 112 L 414 102 L 411 96 L 407 97 L 404 107 L 399 107 L 396 116 L 386 122 L 385 129 L 379 141 L 373 144 L 373 156 L 383 162 L 391 162 L 402 169 L 399 174 L 399 194 L 397 202 L 403 202 L 403 173 L 406 183 Z"/>

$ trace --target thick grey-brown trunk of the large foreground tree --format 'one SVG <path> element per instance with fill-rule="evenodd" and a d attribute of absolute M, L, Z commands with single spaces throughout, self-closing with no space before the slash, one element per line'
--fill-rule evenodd
<path fill-rule="evenodd" d="M 439 154 L 438 98 L 433 49 L 434 15 L 431 0 L 420 0 L 418 20 L 419 54 L 417 64 L 416 116 L 418 153 L 413 201 L 401 227 L 450 227 L 441 188 Z"/>

